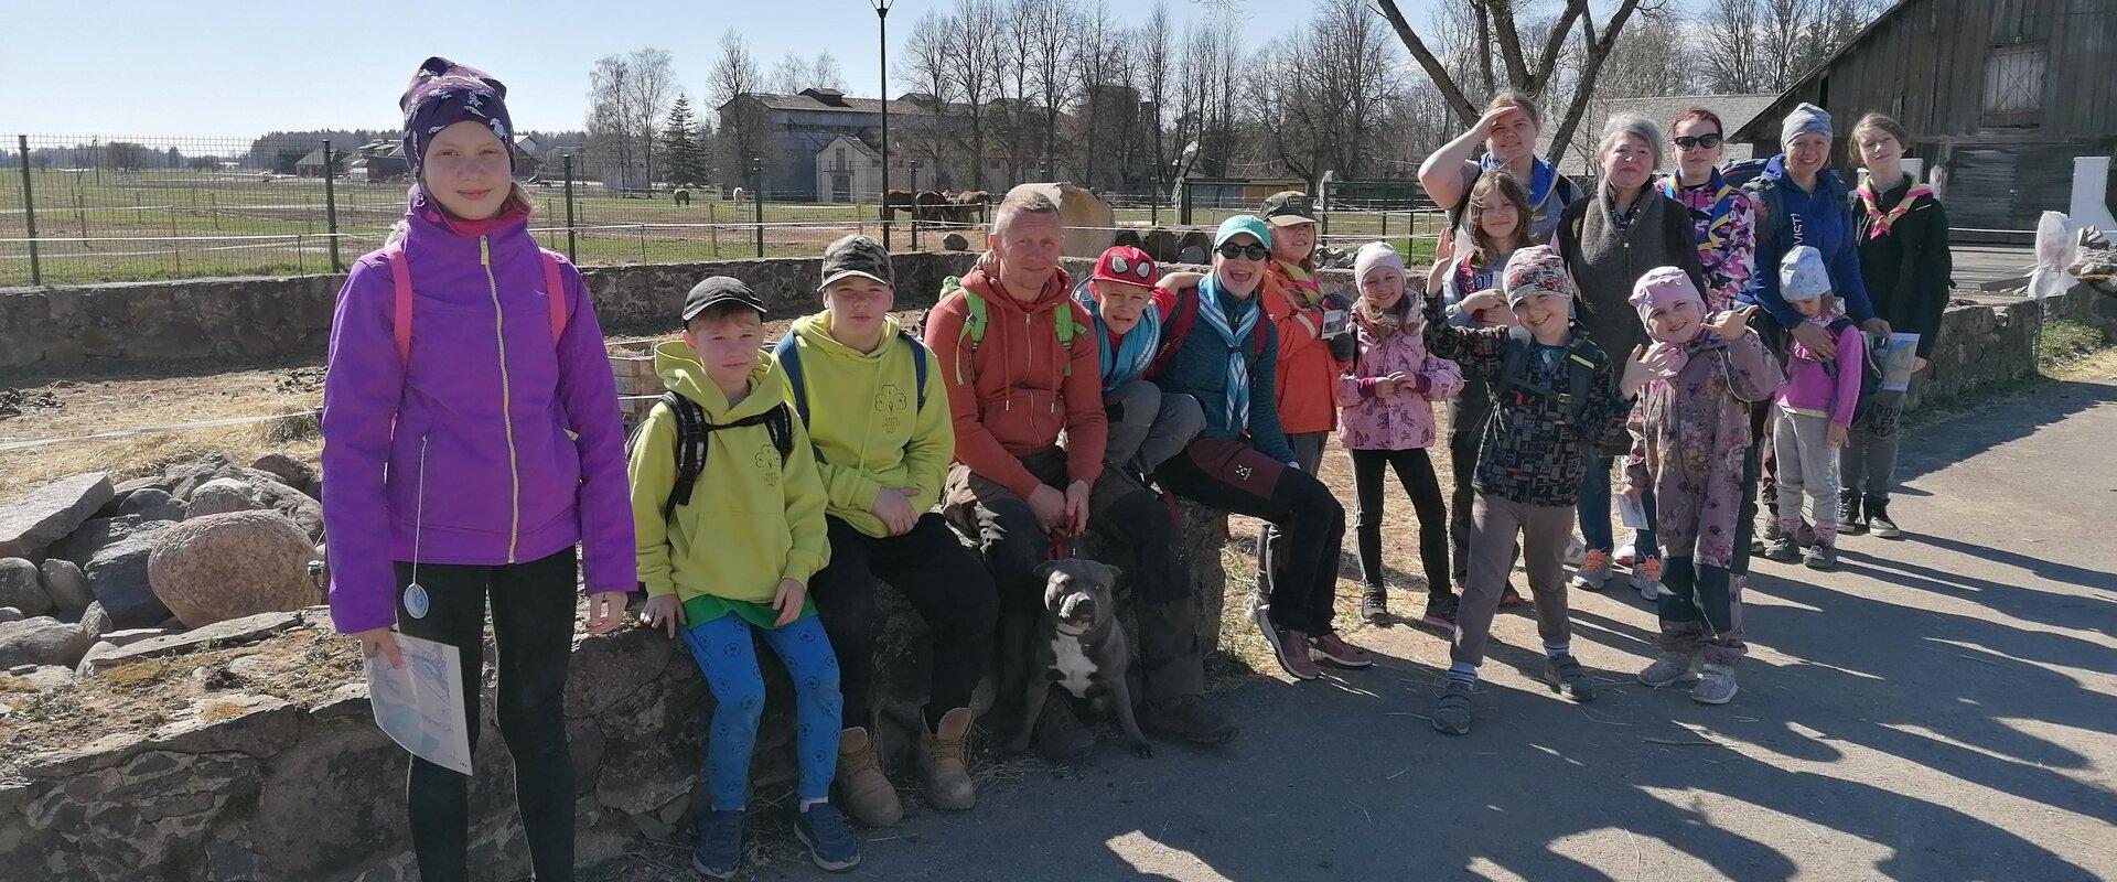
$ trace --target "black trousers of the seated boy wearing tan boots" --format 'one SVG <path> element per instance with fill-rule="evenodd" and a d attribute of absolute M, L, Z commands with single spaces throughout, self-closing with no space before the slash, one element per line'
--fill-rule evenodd
<path fill-rule="evenodd" d="M 868 725 L 868 683 L 874 677 L 874 580 L 889 582 L 934 635 L 934 677 L 927 685 L 927 728 L 959 706 L 970 706 L 987 660 L 993 658 L 993 575 L 978 552 L 965 548 L 940 514 L 921 514 L 910 533 L 872 537 L 826 516 L 830 567 L 809 577 L 809 596 L 824 618 L 824 632 L 838 649 L 843 728 Z"/>

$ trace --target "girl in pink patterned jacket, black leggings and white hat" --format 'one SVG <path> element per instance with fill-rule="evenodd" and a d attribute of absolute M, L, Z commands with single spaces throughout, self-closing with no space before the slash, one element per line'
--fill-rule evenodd
<path fill-rule="evenodd" d="M 1359 615 L 1380 622 L 1389 615 L 1382 592 L 1382 467 L 1397 472 L 1397 482 L 1418 512 L 1418 558 L 1427 573 L 1425 622 L 1454 622 L 1454 592 L 1448 584 L 1448 510 L 1427 448 L 1433 446 L 1433 402 L 1463 389 L 1463 372 L 1454 362 L 1427 353 L 1421 326 L 1425 311 L 1404 296 L 1404 258 L 1380 241 L 1370 241 L 1353 260 L 1359 279 L 1359 302 L 1353 324 L 1359 330 L 1359 355 L 1338 376 L 1338 444 L 1353 455 L 1353 482 L 1359 497 L 1355 531 L 1359 535 L 1359 575 L 1365 594 Z"/>

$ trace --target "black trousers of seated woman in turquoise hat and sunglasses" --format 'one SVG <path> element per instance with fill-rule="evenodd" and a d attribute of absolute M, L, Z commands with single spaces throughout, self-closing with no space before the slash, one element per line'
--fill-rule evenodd
<path fill-rule="evenodd" d="M 1224 482 L 1198 467 L 1190 446 L 1171 457 L 1154 478 L 1173 493 L 1224 512 L 1268 520 L 1283 533 L 1279 577 L 1272 580 L 1272 622 L 1287 630 L 1327 635 L 1338 596 L 1338 548 L 1344 544 L 1344 506 L 1308 472 L 1285 467 L 1270 497 Z M 1277 465 L 1247 451 L 1243 467 Z"/>

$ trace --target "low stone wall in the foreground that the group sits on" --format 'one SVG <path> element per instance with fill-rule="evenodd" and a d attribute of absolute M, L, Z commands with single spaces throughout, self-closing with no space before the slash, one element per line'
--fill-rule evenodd
<path fill-rule="evenodd" d="M 1181 518 L 1200 594 L 1200 637 L 1213 647 L 1226 584 L 1219 563 L 1226 516 L 1186 503 Z M 876 611 L 883 761 L 895 780 L 910 783 L 931 639 L 887 586 L 879 586 Z M 328 632 L 322 607 L 279 615 L 288 622 L 263 643 L 207 641 L 191 656 L 112 664 L 95 677 L 51 685 L 70 690 L 51 704 L 74 702 L 76 713 L 106 717 L 78 740 L 23 747 L 15 736 L 0 738 L 8 742 L 0 757 L 0 855 L 13 857 L 0 861 L 0 882 L 415 878 L 402 810 L 409 759 L 375 728 L 366 687 L 347 664 L 351 643 Z M 470 865 L 476 878 L 523 878 L 527 844 L 493 717 L 493 649 L 485 651 Z M 167 666 L 129 673 L 133 664 Z M 318 683 L 315 668 L 337 673 Z M 794 776 L 792 694 L 779 664 L 766 662 L 762 670 L 771 698 L 752 795 L 783 802 Z M 203 696 L 174 704 L 121 700 L 135 696 L 148 677 L 207 685 Z M 0 704 L 36 706 L 25 690 L 40 683 L 0 670 Z M 987 692 L 980 690 L 980 713 Z M 116 719 L 119 713 L 127 719 Z M 576 637 L 565 725 L 580 865 L 614 859 L 644 840 L 688 846 L 694 806 L 705 804 L 696 774 L 709 713 L 696 666 L 675 641 L 637 628 Z"/>

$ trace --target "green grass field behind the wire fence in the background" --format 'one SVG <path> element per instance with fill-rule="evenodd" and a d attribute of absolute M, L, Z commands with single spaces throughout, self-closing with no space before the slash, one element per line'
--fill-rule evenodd
<path fill-rule="evenodd" d="M 36 199 L 38 262 L 49 286 L 93 281 L 150 281 L 222 275 L 284 275 L 330 271 L 330 222 L 324 182 L 218 171 L 59 171 L 30 173 Z M 404 212 L 402 184 L 334 182 L 339 262 L 381 245 Z M 565 192 L 531 186 L 538 228 L 565 224 Z M 1211 228 L 1232 209 L 1196 209 L 1194 226 Z M 1145 226 L 1154 212 L 1116 209 L 1118 226 Z M 876 207 L 855 203 L 764 203 L 764 256 L 813 256 L 847 233 L 874 233 Z M 1177 209 L 1158 212 L 1175 226 Z M 21 171 L 0 173 L 0 286 L 28 286 L 30 245 Z M 663 199 L 620 199 L 601 186 L 574 195 L 576 254 L 582 264 L 694 262 L 756 256 L 756 207 L 732 201 L 694 201 L 677 207 Z M 737 226 L 730 226 L 737 224 Z M 785 226 L 781 226 L 785 224 Z M 1416 224 L 1416 226 L 1414 226 Z M 1332 214 L 1325 243 L 1357 247 L 1389 237 L 1412 262 L 1431 260 L 1433 216 Z M 921 247 L 938 247 L 940 233 L 923 231 Z M 1406 241 L 1406 235 L 1412 235 Z M 546 247 L 565 250 L 565 233 L 540 233 Z M 978 237 L 974 237 L 976 241 Z M 906 218 L 898 247 L 908 247 Z"/>

